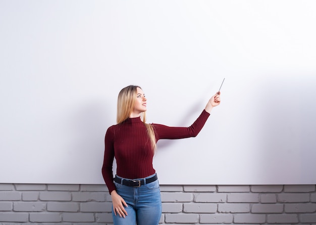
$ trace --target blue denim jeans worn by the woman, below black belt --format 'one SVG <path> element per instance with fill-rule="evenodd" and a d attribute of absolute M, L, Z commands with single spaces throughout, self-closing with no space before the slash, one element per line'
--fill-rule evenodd
<path fill-rule="evenodd" d="M 155 174 L 145 177 L 149 178 Z M 120 177 L 122 178 L 122 177 Z M 145 179 L 144 178 L 144 179 Z M 140 187 L 128 187 L 114 183 L 117 193 L 125 200 L 127 216 L 115 215 L 112 206 L 114 225 L 157 225 L 162 215 L 162 202 L 158 180 Z"/>

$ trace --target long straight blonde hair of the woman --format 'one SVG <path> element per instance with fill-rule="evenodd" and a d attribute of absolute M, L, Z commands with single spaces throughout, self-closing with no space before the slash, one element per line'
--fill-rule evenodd
<path fill-rule="evenodd" d="M 135 106 L 137 87 L 141 89 L 140 86 L 129 85 L 127 87 L 124 87 L 120 91 L 119 96 L 118 96 L 118 106 L 117 106 L 117 116 L 116 116 L 116 121 L 118 124 L 128 119 L 130 114 L 132 113 Z M 151 148 L 152 148 L 152 151 L 154 152 L 156 149 L 156 139 L 154 136 L 153 126 L 151 124 L 146 123 L 146 112 L 141 113 L 141 119 L 146 126 L 148 137 L 151 143 Z"/>

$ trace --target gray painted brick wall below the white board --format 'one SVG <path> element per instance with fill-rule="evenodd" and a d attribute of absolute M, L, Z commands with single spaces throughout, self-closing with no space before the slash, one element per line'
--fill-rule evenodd
<path fill-rule="evenodd" d="M 161 224 L 316 225 L 315 185 L 161 186 Z M 0 225 L 112 224 L 105 185 L 0 184 Z"/>

